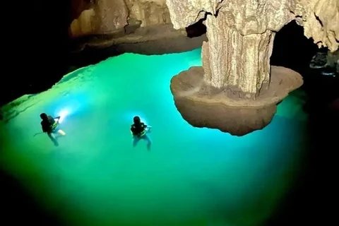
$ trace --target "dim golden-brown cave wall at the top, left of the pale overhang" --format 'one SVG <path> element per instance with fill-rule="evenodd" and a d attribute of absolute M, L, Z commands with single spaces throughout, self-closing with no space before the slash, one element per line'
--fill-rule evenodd
<path fill-rule="evenodd" d="M 171 23 L 165 0 L 71 0 L 70 37 L 124 31 L 129 23 L 141 27 Z"/>

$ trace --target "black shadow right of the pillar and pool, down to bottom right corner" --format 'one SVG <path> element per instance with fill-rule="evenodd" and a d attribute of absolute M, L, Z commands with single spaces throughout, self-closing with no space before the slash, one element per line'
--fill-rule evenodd
<path fill-rule="evenodd" d="M 333 101 L 339 97 L 339 83 L 338 77 L 322 76 L 319 71 L 309 69 L 309 61 L 318 51 L 295 22 L 276 35 L 271 64 L 298 71 L 304 78 L 308 145 L 303 164 L 295 169 L 299 172 L 297 183 L 266 225 L 331 225 L 337 217 L 334 200 L 339 191 L 335 179 L 339 112 Z"/>

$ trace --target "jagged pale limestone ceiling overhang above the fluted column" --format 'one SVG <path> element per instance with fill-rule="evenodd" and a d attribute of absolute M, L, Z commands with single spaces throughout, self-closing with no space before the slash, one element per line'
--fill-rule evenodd
<path fill-rule="evenodd" d="M 175 29 L 186 28 L 204 18 L 206 13 L 227 14 L 227 23 L 242 35 L 259 34 L 265 30 L 278 32 L 290 20 L 304 26 L 304 35 L 314 43 L 338 49 L 338 0 L 166 0 Z"/>

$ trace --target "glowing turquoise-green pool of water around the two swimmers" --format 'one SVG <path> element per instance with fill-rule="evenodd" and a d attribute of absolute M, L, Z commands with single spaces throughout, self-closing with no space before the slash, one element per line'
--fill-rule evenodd
<path fill-rule="evenodd" d="M 262 131 L 237 137 L 197 129 L 177 112 L 169 82 L 201 65 L 200 57 L 201 49 L 123 54 L 65 76 L 1 125 L 1 166 L 64 225 L 261 225 L 297 176 L 302 91 Z M 63 111 L 59 147 L 34 136 L 41 112 Z M 135 115 L 153 126 L 150 151 L 143 141 L 131 145 Z"/>

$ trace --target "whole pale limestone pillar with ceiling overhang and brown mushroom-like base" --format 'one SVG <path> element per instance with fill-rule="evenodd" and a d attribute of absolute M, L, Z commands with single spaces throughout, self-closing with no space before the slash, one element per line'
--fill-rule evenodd
<path fill-rule="evenodd" d="M 276 105 L 302 85 L 290 69 L 270 66 L 275 32 L 291 20 L 331 52 L 338 49 L 338 0 L 166 0 L 175 29 L 206 18 L 203 67 L 174 76 L 182 117 L 197 127 L 243 136 L 270 123 Z"/>

